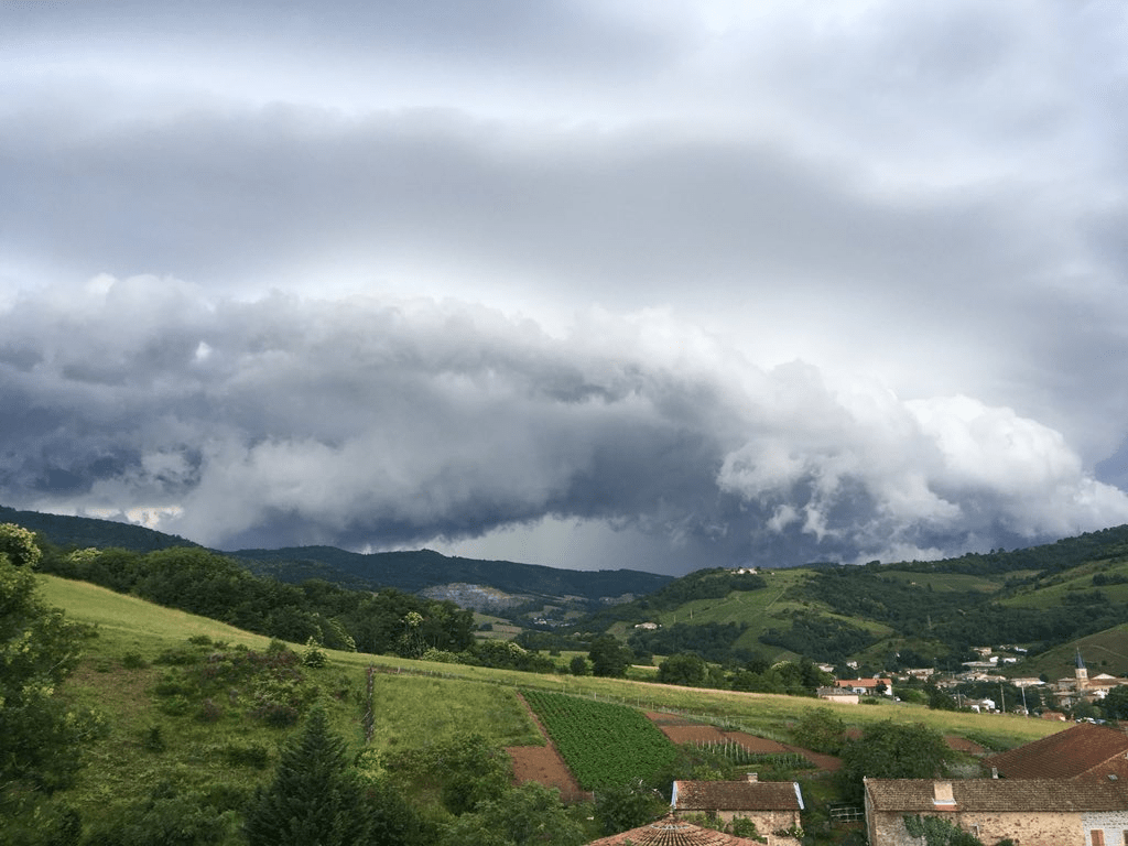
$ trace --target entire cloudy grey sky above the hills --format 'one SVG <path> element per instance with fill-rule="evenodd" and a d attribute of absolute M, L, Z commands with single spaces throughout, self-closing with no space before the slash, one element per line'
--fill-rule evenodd
<path fill-rule="evenodd" d="M 0 3 L 0 503 L 681 574 L 1128 522 L 1119 0 Z"/>

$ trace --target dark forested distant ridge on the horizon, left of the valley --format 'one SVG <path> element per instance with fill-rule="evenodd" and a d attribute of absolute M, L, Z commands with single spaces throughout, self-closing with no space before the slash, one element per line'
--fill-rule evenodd
<path fill-rule="evenodd" d="M 176 535 L 143 526 L 88 517 L 17 511 L 2 505 L 0 522 L 14 522 L 42 532 L 51 543 L 64 547 L 120 547 L 148 553 L 175 546 L 200 546 Z M 511 561 L 449 557 L 432 549 L 362 554 L 332 546 L 301 546 L 214 552 L 239 561 L 257 574 L 272 575 L 280 581 L 323 579 L 350 588 L 396 588 L 409 593 L 465 583 L 495 588 L 518 596 L 576 597 L 599 601 L 643 596 L 673 581 L 672 576 L 638 570 L 561 570 Z"/>

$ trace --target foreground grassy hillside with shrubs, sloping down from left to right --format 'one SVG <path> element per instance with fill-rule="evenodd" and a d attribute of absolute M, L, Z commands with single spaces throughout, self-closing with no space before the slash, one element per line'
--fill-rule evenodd
<path fill-rule="evenodd" d="M 270 779 L 280 746 L 296 731 L 285 720 L 265 719 L 263 714 L 277 712 L 261 707 L 263 696 L 276 698 L 287 691 L 298 694 L 293 702 L 302 712 L 309 697 L 318 696 L 332 725 L 346 739 L 350 757 L 362 760 L 376 759 L 365 758 L 365 750 L 380 760 L 394 760 L 402 752 L 464 743 L 475 734 L 494 746 L 540 743 L 517 696 L 519 688 L 564 690 L 644 711 L 691 713 L 781 740 L 811 708 L 828 707 L 802 697 L 433 664 L 334 650 L 325 651 L 324 667 L 296 667 L 284 685 L 277 679 L 267 684 L 238 675 L 252 658 L 282 654 L 279 644 L 265 637 L 83 582 L 42 579 L 50 605 L 97 631 L 63 693 L 74 703 L 97 708 L 104 731 L 89 741 L 89 765 L 76 786 L 51 800 L 53 807 L 77 813 L 88 834 L 106 827 L 120 830 L 126 818 L 156 825 L 147 816 L 153 809 L 166 814 L 162 825 L 187 826 L 203 810 L 233 819 L 230 814 L 237 814 L 254 790 Z M 365 703 L 373 700 L 379 707 L 367 733 Z M 1060 728 L 893 703 L 832 707 L 853 728 L 883 720 L 925 722 L 944 734 L 975 738 L 994 748 Z M 582 813 L 590 814 L 590 809 Z"/>

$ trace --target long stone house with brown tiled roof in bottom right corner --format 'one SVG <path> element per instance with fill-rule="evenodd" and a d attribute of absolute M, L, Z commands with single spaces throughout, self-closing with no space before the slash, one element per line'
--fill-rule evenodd
<path fill-rule="evenodd" d="M 1128 783 L 865 779 L 870 846 L 918 846 L 906 827 L 913 817 L 940 817 L 987 844 L 1125 846 Z"/>

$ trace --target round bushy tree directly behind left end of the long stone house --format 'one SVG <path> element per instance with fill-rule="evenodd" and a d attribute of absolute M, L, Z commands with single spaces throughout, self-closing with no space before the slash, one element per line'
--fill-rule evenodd
<path fill-rule="evenodd" d="M 860 802 L 863 778 L 935 778 L 950 755 L 943 735 L 934 729 L 885 720 L 843 747 L 838 777 L 843 792 Z"/>

